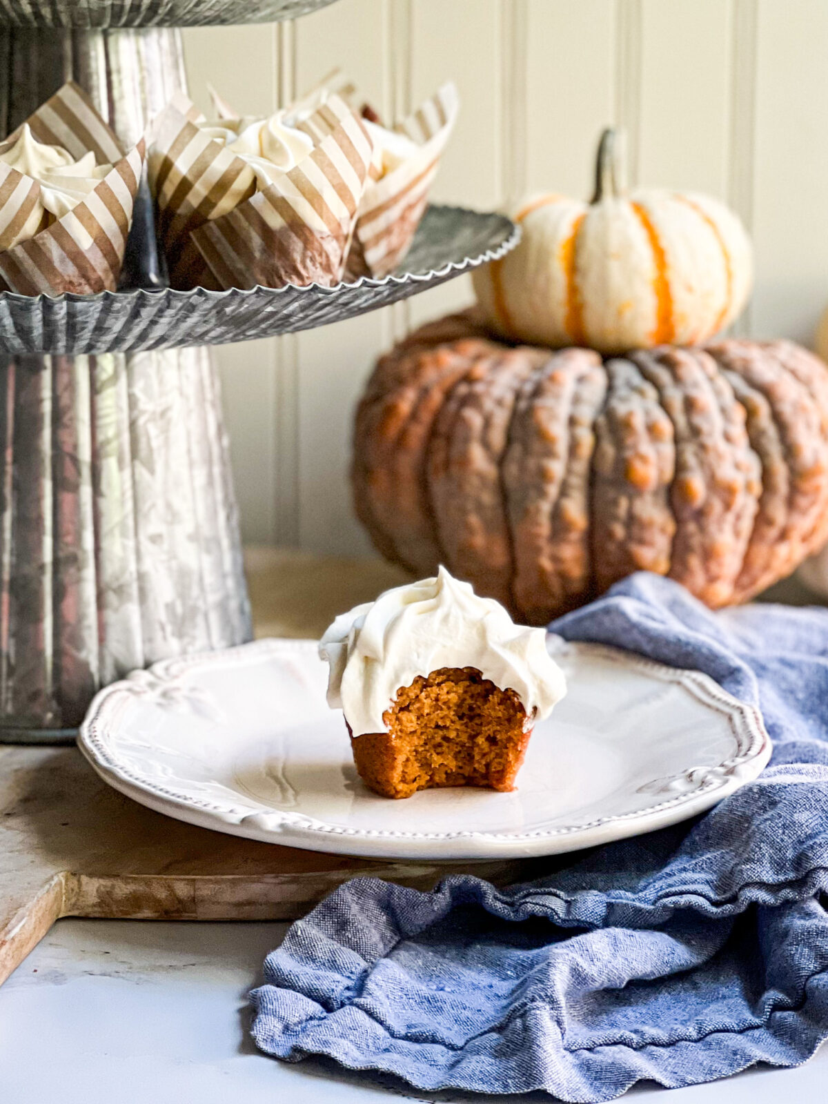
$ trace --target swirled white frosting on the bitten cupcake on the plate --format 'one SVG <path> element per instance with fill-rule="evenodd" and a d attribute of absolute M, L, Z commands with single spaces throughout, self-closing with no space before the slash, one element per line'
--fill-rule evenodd
<path fill-rule="evenodd" d="M 319 655 L 330 664 L 328 704 L 344 712 L 354 736 L 385 732 L 382 714 L 397 690 L 442 667 L 474 667 L 513 690 L 530 721 L 549 716 L 566 692 L 545 629 L 516 625 L 499 602 L 445 567 L 340 614 Z"/>

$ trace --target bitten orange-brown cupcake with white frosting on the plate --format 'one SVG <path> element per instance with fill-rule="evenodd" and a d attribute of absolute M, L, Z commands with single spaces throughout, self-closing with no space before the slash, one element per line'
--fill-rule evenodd
<path fill-rule="evenodd" d="M 544 629 L 516 625 L 445 567 L 341 614 L 319 654 L 357 769 L 385 797 L 513 789 L 534 722 L 566 692 Z"/>

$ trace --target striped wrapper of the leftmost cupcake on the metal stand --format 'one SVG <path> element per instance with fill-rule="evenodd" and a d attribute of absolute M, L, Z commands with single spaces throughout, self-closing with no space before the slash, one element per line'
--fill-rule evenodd
<path fill-rule="evenodd" d="M 38 141 L 62 146 L 75 160 L 92 150 L 98 163 L 113 168 L 86 199 L 44 226 L 40 183 L 0 162 L 0 289 L 22 295 L 114 291 L 144 167 L 144 140 L 125 155 L 74 82 L 60 88 L 26 123 Z M 0 150 L 11 146 L 19 131 L 0 144 Z M 33 236 L 9 247 L 31 220 L 36 223 Z"/>

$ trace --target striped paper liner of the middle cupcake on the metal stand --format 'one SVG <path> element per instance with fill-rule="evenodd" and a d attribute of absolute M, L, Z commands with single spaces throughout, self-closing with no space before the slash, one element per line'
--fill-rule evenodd
<path fill-rule="evenodd" d="M 148 159 L 172 286 L 338 284 L 373 158 L 351 108 L 331 96 L 302 126 L 315 148 L 261 191 L 250 164 L 204 134 L 194 112 L 178 97 L 162 113 Z"/>

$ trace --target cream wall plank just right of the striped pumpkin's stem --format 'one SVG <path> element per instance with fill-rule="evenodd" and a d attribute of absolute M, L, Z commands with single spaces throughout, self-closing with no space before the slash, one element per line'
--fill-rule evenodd
<path fill-rule="evenodd" d="M 643 0 L 638 182 L 726 197 L 729 0 Z"/>

